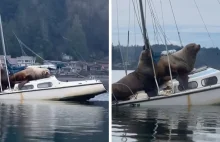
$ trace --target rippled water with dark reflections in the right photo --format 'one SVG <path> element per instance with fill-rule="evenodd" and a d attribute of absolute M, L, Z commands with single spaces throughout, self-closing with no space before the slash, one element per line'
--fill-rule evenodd
<path fill-rule="evenodd" d="M 219 114 L 219 106 L 113 108 L 112 140 L 217 142 Z"/>

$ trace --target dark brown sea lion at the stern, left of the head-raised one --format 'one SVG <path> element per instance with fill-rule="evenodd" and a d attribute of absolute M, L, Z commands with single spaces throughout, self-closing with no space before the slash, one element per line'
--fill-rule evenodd
<path fill-rule="evenodd" d="M 150 50 L 143 50 L 137 69 L 112 84 L 113 100 L 128 100 L 137 91 L 150 92 L 155 89 L 154 72 Z"/>

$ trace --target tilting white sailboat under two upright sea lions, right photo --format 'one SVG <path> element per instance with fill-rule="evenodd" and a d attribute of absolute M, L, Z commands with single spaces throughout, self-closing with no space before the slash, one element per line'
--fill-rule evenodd
<path fill-rule="evenodd" d="M 150 49 L 146 36 L 142 0 L 139 0 L 145 47 Z M 197 68 L 189 74 L 189 89 L 183 90 L 176 79 L 158 86 L 158 94 L 149 97 L 145 91 L 138 91 L 128 101 L 116 101 L 113 106 L 142 107 L 150 105 L 215 105 L 220 104 L 220 71 L 208 66 Z M 167 87 L 172 89 L 166 89 Z M 113 94 L 114 95 L 114 94 Z"/>

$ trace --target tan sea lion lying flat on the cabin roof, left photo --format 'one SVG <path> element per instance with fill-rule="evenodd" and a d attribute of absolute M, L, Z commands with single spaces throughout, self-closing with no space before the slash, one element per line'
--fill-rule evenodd
<path fill-rule="evenodd" d="M 18 88 L 21 89 L 27 82 L 31 80 L 47 78 L 49 76 L 50 71 L 48 69 L 31 67 L 11 75 L 10 81 L 20 81 L 21 83 L 18 85 Z"/>

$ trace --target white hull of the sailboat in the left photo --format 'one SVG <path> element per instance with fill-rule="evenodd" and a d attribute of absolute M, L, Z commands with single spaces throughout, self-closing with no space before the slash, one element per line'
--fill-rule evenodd
<path fill-rule="evenodd" d="M 106 92 L 103 84 L 67 86 L 59 88 L 13 91 L 0 95 L 0 100 L 89 100 Z"/>

